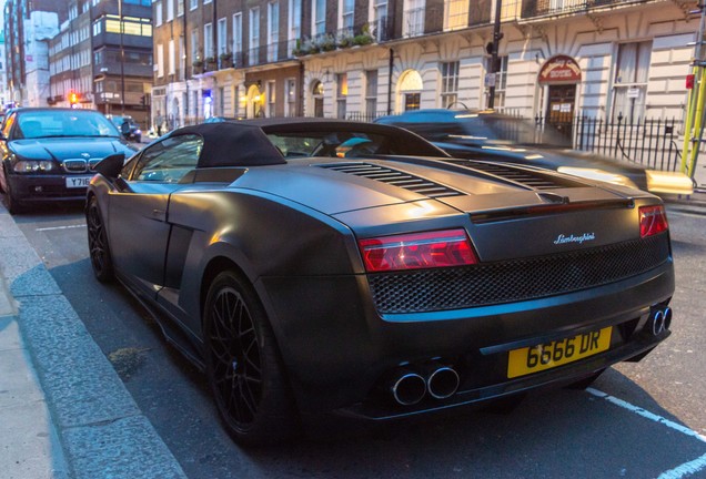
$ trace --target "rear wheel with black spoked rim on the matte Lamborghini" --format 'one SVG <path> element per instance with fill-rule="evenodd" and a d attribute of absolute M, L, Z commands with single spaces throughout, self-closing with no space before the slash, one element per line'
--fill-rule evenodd
<path fill-rule="evenodd" d="M 219 274 L 204 309 L 205 363 L 221 419 L 241 446 L 288 439 L 296 412 L 274 333 L 250 284 Z"/>

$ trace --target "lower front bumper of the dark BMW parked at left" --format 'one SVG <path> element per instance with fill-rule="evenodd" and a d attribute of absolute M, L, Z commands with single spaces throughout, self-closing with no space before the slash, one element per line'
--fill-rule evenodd
<path fill-rule="evenodd" d="M 7 176 L 14 198 L 21 203 L 84 201 L 85 186 L 68 187 L 67 181 L 87 179 L 92 174 L 31 175 L 11 174 Z"/>

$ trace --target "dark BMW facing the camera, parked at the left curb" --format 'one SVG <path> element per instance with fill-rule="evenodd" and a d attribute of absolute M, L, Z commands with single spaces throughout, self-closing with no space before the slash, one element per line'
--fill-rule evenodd
<path fill-rule="evenodd" d="M 0 134 L 0 188 L 10 213 L 34 203 L 84 201 L 93 167 L 103 157 L 137 149 L 92 110 L 13 110 Z"/>

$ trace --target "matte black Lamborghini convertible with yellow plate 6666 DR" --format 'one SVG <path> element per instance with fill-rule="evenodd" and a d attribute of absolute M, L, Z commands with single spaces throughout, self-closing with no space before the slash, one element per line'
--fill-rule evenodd
<path fill-rule="evenodd" d="M 182 128 L 97 171 L 95 277 L 148 305 L 242 445 L 583 387 L 670 334 L 643 191 L 323 119 Z"/>

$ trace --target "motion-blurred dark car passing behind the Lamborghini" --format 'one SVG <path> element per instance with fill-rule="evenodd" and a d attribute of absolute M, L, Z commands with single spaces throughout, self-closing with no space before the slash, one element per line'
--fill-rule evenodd
<path fill-rule="evenodd" d="M 375 122 L 411 130 L 454 157 L 539 166 L 655 194 L 694 193 L 694 182 L 683 173 L 572 150 L 571 139 L 548 124 L 537 128 L 532 120 L 493 111 L 415 110 Z"/>

